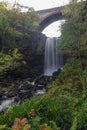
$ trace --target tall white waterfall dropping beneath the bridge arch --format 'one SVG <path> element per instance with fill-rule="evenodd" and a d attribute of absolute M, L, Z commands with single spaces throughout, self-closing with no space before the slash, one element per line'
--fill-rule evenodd
<path fill-rule="evenodd" d="M 53 72 L 63 66 L 62 51 L 58 50 L 58 38 L 47 38 L 45 45 L 44 75 L 52 76 Z"/>

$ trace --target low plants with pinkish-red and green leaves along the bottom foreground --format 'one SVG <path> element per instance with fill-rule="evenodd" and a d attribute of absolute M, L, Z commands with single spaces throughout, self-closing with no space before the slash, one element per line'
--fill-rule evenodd
<path fill-rule="evenodd" d="M 11 111 L 9 111 L 11 112 Z M 9 113 L 10 114 L 10 113 Z M 49 124 L 42 123 L 41 117 L 39 117 L 34 109 L 31 109 L 31 111 L 28 113 L 28 118 L 15 118 L 12 123 L 12 129 L 11 130 L 60 130 L 59 127 L 57 127 L 56 123 L 54 121 L 50 121 Z M 1 125 L 1 128 L 3 129 L 10 129 L 10 127 L 6 125 Z"/>

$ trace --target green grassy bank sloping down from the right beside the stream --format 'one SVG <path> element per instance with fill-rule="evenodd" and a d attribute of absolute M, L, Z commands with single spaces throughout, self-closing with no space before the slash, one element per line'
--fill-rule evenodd
<path fill-rule="evenodd" d="M 83 58 L 82 58 L 83 60 Z M 84 63 L 86 57 L 84 58 Z M 0 124 L 11 126 L 16 117 L 30 119 L 30 126 L 48 124 L 53 130 L 71 129 L 86 130 L 87 128 L 87 68 L 82 69 L 79 59 L 71 59 L 64 66 L 59 77 L 49 86 L 44 96 L 35 96 L 22 104 L 9 108 L 0 115 Z M 33 121 L 33 122 L 32 122 Z M 32 125 L 31 125 L 32 124 Z M 58 128 L 59 126 L 59 128 Z"/>

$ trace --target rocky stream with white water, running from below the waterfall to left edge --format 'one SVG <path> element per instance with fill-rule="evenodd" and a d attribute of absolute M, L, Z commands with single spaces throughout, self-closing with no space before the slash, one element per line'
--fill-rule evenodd
<path fill-rule="evenodd" d="M 46 85 L 39 83 L 41 78 L 39 76 L 31 82 L 29 80 L 20 81 L 17 89 L 4 92 L 0 95 L 0 113 L 4 112 L 10 105 L 21 103 L 24 99 L 34 95 L 44 94 L 46 92 Z"/>

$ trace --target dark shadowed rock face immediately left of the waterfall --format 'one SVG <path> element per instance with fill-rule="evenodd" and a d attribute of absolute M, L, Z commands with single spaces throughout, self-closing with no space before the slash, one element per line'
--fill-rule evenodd
<path fill-rule="evenodd" d="M 21 43 L 19 49 L 26 62 L 26 65 L 22 68 L 23 75 L 21 76 L 23 78 L 35 78 L 43 73 L 45 42 L 45 35 L 31 32 L 30 38 L 25 38 L 24 43 Z"/>

